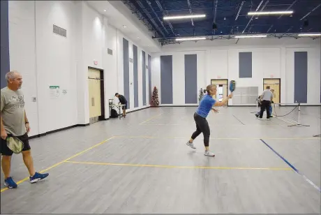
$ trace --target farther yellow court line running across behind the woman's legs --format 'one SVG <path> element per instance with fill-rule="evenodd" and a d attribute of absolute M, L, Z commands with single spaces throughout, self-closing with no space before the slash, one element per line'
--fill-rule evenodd
<path fill-rule="evenodd" d="M 114 138 L 142 138 L 142 139 L 186 139 L 182 137 L 156 137 L 156 136 L 124 136 L 115 135 Z M 210 140 L 320 140 L 321 138 L 209 138 Z"/>

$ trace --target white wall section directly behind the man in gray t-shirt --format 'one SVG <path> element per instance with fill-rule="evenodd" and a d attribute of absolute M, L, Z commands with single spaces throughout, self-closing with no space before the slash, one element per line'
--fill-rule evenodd
<path fill-rule="evenodd" d="M 35 2 L 8 1 L 9 3 L 9 46 L 10 69 L 22 74 L 25 110 L 31 123 L 30 135 L 38 134 L 38 97 L 36 84 L 36 40 L 35 40 Z M 4 78 L 4 77 L 1 77 Z"/>

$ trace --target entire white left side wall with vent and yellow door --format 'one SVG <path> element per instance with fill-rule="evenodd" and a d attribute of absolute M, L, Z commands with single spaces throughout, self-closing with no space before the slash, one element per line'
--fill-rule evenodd
<path fill-rule="evenodd" d="M 54 34 L 53 24 L 66 29 L 67 36 Z M 115 98 L 116 92 L 124 94 L 123 37 L 86 1 L 9 1 L 10 69 L 22 73 L 30 135 L 89 123 L 89 66 L 104 71 L 105 117 L 109 117 L 108 99 Z M 107 54 L 107 48 L 112 55 Z M 139 84 L 141 64 L 138 62 Z M 130 80 L 133 82 L 133 64 Z M 58 98 L 50 98 L 50 85 L 60 87 Z M 64 89 L 67 94 L 62 94 Z M 133 85 L 130 94 L 133 107 Z M 140 91 L 140 106 L 128 111 L 142 107 Z"/>

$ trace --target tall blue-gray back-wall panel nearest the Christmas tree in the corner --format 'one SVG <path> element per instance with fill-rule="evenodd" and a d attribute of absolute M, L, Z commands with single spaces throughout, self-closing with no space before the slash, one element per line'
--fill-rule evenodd
<path fill-rule="evenodd" d="M 173 103 L 173 59 L 172 55 L 160 56 L 160 101 Z"/>

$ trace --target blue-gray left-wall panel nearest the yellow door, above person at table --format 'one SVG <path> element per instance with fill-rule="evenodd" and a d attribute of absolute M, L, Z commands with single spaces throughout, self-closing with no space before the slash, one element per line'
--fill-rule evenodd
<path fill-rule="evenodd" d="M 128 40 L 123 38 L 123 53 L 124 53 L 124 96 L 127 100 L 127 108 L 130 108 L 130 94 L 129 94 L 129 50 Z"/>

